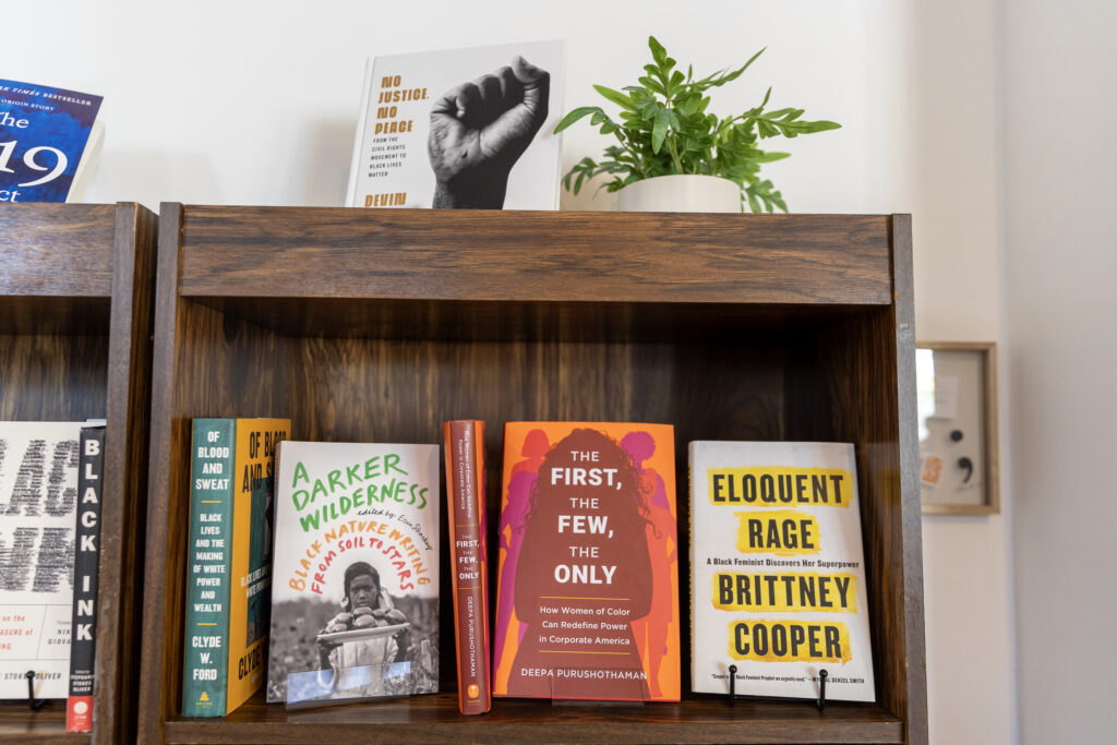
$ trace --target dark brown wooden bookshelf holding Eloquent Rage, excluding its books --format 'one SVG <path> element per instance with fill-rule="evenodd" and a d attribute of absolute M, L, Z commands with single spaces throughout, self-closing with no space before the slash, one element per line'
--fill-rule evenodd
<path fill-rule="evenodd" d="M 926 742 L 910 267 L 907 216 L 164 204 L 141 742 Z M 853 442 L 877 703 L 497 699 L 466 718 L 443 632 L 437 696 L 289 711 L 257 698 L 184 718 L 188 449 L 202 416 L 395 442 L 484 419 L 490 545 L 505 421 L 672 423 L 680 485 L 694 439 Z M 687 628 L 681 648 L 686 690 Z"/>

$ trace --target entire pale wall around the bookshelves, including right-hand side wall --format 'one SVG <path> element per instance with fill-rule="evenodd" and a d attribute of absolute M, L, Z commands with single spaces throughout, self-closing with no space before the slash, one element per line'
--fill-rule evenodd
<path fill-rule="evenodd" d="M 333 206 L 367 55 L 565 39 L 569 109 L 632 80 L 648 34 L 699 71 L 766 45 L 715 109 L 772 85 L 844 125 L 780 143 L 794 156 L 767 174 L 789 206 L 911 212 L 918 337 L 1001 345 L 1004 512 L 925 520 L 932 739 L 1018 739 L 1015 556 L 1023 738 L 1087 742 L 1102 716 L 1113 729 L 1117 609 L 1069 627 L 1056 609 L 1082 606 L 1092 575 L 1068 577 L 1106 565 L 1092 546 L 1115 516 L 1095 466 L 1117 413 L 1114 150 L 1095 134 L 1117 118 L 1114 20 L 1100 0 L 23 2 L 2 10 L 0 76 L 105 96 L 89 201 Z M 576 126 L 565 165 L 602 142 Z"/>

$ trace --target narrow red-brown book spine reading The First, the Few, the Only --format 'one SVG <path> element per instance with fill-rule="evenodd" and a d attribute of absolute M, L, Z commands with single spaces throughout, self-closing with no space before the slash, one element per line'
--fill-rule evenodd
<path fill-rule="evenodd" d="M 489 690 L 488 552 L 485 538 L 485 422 L 449 421 L 446 498 L 458 651 L 458 708 L 485 714 Z"/>

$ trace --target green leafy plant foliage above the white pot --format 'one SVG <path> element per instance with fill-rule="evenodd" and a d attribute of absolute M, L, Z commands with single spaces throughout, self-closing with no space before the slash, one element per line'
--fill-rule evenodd
<path fill-rule="evenodd" d="M 648 37 L 653 65 L 645 65 L 647 75 L 640 85 L 621 90 L 595 85 L 593 88 L 621 107 L 620 121 L 613 120 L 600 106 L 582 106 L 566 114 L 555 127 L 562 132 L 589 116 L 590 124 L 601 127 L 601 134 L 613 135 L 619 144 L 605 147 L 605 159 L 598 162 L 583 157 L 563 178 L 567 191 L 575 194 L 583 183 L 601 174 L 612 179 L 603 184 L 618 191 L 636 181 L 672 173 L 723 176 L 741 187 L 742 200 L 753 212 L 762 208 L 787 211 L 783 195 L 772 182 L 762 179 L 764 163 L 779 161 L 791 153 L 766 152 L 757 146 L 767 137 L 798 137 L 801 134 L 837 130 L 834 122 L 806 122 L 802 108 L 765 111 L 772 88 L 761 105 L 736 116 L 718 117 L 707 113 L 706 92 L 741 77 L 764 49 L 734 70 L 723 69 L 695 79 L 693 66 L 686 75 L 676 69 L 677 63 L 667 55 L 656 37 Z M 766 49 L 766 47 L 765 47 Z"/>

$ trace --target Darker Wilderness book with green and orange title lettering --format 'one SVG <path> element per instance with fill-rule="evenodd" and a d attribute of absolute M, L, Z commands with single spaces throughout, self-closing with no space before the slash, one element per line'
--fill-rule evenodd
<path fill-rule="evenodd" d="M 284 442 L 268 701 L 438 691 L 439 448 Z"/>

